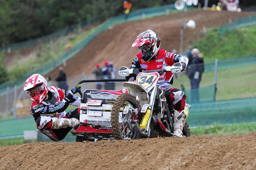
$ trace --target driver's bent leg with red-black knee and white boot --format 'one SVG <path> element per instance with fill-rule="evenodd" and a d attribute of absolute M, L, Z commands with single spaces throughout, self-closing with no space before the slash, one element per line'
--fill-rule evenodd
<path fill-rule="evenodd" d="M 167 102 L 173 103 L 174 134 L 182 136 L 186 95 L 177 88 L 168 89 L 165 93 Z"/>

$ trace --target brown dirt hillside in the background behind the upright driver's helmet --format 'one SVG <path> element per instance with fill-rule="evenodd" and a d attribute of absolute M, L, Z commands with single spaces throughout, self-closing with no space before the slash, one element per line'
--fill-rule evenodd
<path fill-rule="evenodd" d="M 184 22 L 195 20 L 196 28 L 195 30 L 184 29 L 183 51 L 186 51 L 189 40 L 195 43 L 200 41 L 199 35 L 201 35 L 201 38 L 206 37 L 206 35 L 202 37 L 203 27 L 207 29 L 218 27 L 229 23 L 230 20 L 234 21 L 253 14 L 230 11 L 186 11 Z M 103 67 L 105 61 L 113 61 L 116 68 L 120 66 L 130 67 L 132 59 L 139 52 L 138 48 L 132 48 L 131 45 L 138 34 L 148 29 L 155 31 L 160 36 L 162 49 L 167 51 L 176 49 L 179 54 L 180 22 L 180 13 L 176 13 L 115 25 L 112 30 L 103 31 L 95 36 L 86 47 L 69 59 L 64 71 L 68 77 L 81 75 L 82 73 L 89 74 L 91 69 L 95 69 L 97 63 Z"/>

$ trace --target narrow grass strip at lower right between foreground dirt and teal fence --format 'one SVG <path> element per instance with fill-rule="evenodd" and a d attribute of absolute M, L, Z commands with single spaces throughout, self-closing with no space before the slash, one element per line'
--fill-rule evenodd
<path fill-rule="evenodd" d="M 192 136 L 228 136 L 256 132 L 256 122 L 190 128 Z"/>

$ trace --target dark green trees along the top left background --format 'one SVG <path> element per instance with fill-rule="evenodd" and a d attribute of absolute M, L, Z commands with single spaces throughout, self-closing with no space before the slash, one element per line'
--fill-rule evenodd
<path fill-rule="evenodd" d="M 132 10 L 174 0 L 132 0 Z M 123 0 L 0 0 L 1 46 L 26 41 L 82 21 L 123 14 Z"/>

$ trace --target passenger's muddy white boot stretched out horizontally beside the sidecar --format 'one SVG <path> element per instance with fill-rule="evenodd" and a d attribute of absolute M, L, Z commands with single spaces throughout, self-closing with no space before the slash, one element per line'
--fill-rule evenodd
<path fill-rule="evenodd" d="M 52 128 L 51 129 L 62 129 L 67 127 L 73 127 L 77 129 L 79 127 L 79 120 L 76 118 L 52 118 Z"/>

